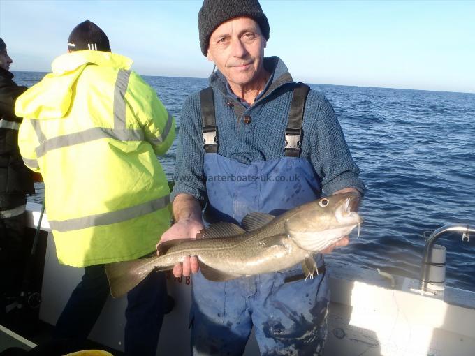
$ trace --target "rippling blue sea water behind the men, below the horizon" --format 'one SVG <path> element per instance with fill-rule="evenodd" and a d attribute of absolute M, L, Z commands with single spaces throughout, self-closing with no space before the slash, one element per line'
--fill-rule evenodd
<path fill-rule="evenodd" d="M 16 72 L 31 86 L 45 73 Z M 207 80 L 145 77 L 180 125 L 184 98 Z M 328 259 L 418 278 L 423 232 L 475 226 L 475 94 L 311 84 L 333 104 L 367 191 L 360 237 Z M 176 140 L 160 161 L 171 179 Z M 41 202 L 44 188 L 30 199 Z M 446 283 L 475 290 L 475 236 L 446 235 Z"/>

